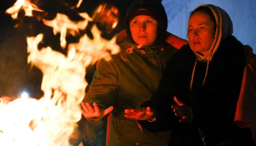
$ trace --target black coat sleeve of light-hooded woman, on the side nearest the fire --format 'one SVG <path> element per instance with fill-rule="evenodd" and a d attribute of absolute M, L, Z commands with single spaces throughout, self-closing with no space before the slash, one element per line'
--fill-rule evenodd
<path fill-rule="evenodd" d="M 142 107 L 149 106 L 156 109 L 156 121 L 139 121 L 142 127 L 151 132 L 173 130 L 176 125 L 180 124 L 180 117 L 175 116 L 171 105 L 176 104 L 174 96 L 184 96 L 186 94 L 178 91 L 181 86 L 184 86 L 185 77 L 183 73 L 186 73 L 186 71 L 183 70 L 187 69 L 183 62 L 179 61 L 182 52 L 178 51 L 167 62 L 159 87 L 151 97 L 151 100 L 142 104 Z M 181 74 L 177 74 L 178 72 Z"/>

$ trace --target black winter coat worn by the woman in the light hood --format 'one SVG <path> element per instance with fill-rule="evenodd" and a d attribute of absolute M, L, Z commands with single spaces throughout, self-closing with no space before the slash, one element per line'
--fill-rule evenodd
<path fill-rule="evenodd" d="M 192 71 L 196 57 L 190 47 L 184 46 L 168 62 L 165 74 L 157 90 L 158 130 L 166 125 L 173 130 L 172 142 L 192 144 L 201 139 L 198 130 L 203 132 L 208 144 L 224 140 L 250 138 L 250 131 L 234 124 L 235 110 L 245 66 L 242 44 L 229 36 L 220 46 L 209 64 L 209 73 L 203 84 L 206 62 L 197 62 L 194 82 L 190 90 Z M 171 109 L 176 104 L 173 97 L 193 109 L 190 123 L 179 123 Z M 153 106 L 154 107 L 154 106 Z M 190 139 L 191 138 L 191 139 Z M 198 139 L 198 140 L 196 140 Z M 202 144 L 202 143 L 201 143 Z M 187 145 L 189 146 L 189 145 Z"/>

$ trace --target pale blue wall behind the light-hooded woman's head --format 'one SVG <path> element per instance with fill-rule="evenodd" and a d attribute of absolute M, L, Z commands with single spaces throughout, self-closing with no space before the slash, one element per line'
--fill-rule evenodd
<path fill-rule="evenodd" d="M 162 0 L 168 15 L 168 31 L 187 39 L 189 13 L 202 4 L 213 4 L 224 9 L 233 22 L 233 35 L 248 44 L 256 53 L 256 0 Z"/>

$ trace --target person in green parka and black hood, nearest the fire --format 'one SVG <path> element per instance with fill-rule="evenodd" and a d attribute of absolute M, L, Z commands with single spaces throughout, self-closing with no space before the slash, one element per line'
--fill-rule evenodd
<path fill-rule="evenodd" d="M 84 102 L 82 114 L 97 121 L 111 112 L 110 142 L 115 146 L 165 146 L 170 132 L 148 132 L 137 120 L 124 117 L 124 109 L 149 100 L 162 77 L 166 61 L 187 44 L 167 29 L 167 16 L 159 0 L 135 0 L 128 8 L 127 37 L 121 51 L 100 61 Z M 167 37 L 168 36 L 168 37 Z"/>

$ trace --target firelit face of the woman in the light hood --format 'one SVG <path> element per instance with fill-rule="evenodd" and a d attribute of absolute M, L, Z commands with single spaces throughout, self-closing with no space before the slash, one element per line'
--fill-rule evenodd
<path fill-rule="evenodd" d="M 214 23 L 211 17 L 204 12 L 196 12 L 188 21 L 187 38 L 194 51 L 205 55 L 214 39 Z"/>

